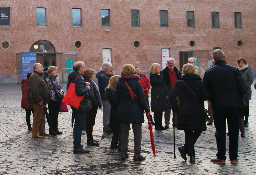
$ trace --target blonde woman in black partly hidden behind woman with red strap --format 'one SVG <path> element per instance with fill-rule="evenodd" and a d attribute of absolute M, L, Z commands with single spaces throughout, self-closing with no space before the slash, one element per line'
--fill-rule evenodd
<path fill-rule="evenodd" d="M 113 131 L 112 141 L 110 149 L 117 148 L 118 151 L 121 151 L 121 142 L 120 142 L 120 122 L 118 120 L 118 105 L 116 105 L 112 99 L 114 90 L 116 89 L 116 83 L 120 76 L 113 75 L 108 82 L 108 87 L 105 89 L 105 94 L 110 103 L 110 118 L 109 118 L 109 127 Z"/>

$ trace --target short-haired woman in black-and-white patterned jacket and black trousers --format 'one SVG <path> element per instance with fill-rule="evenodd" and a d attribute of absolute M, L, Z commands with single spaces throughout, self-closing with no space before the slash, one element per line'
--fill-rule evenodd
<path fill-rule="evenodd" d="M 51 119 L 52 123 L 52 131 L 49 131 L 49 134 L 51 135 L 57 135 L 57 134 L 62 134 L 58 130 L 58 115 L 59 115 L 59 110 L 60 110 L 60 103 L 61 99 L 58 99 L 56 97 L 56 92 L 59 92 L 60 94 L 64 94 L 61 85 L 60 85 L 60 79 L 58 77 L 58 72 L 57 72 L 57 67 L 55 66 L 49 66 L 48 67 L 48 78 L 46 78 L 46 83 L 49 87 L 50 91 L 50 100 L 51 102 L 48 103 L 48 108 L 49 108 L 49 117 Z"/>

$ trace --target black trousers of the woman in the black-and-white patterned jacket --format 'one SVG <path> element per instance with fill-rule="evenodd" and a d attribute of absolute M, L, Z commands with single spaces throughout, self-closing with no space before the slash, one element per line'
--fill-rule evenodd
<path fill-rule="evenodd" d="M 52 123 L 52 129 L 53 131 L 55 131 L 58 129 L 60 101 L 51 101 L 51 103 L 48 103 L 48 108 L 49 108 L 49 117 Z"/>

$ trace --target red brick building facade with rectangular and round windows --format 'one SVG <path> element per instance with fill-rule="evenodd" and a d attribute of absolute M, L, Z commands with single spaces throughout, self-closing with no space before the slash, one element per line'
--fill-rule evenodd
<path fill-rule="evenodd" d="M 6 9 L 9 15 L 2 13 Z M 45 10 L 45 26 L 37 19 L 40 9 Z M 80 24 L 73 9 L 80 11 Z M 109 12 L 106 18 L 103 9 Z M 64 81 L 68 74 L 65 61 L 69 59 L 84 60 L 86 67 L 99 71 L 102 49 L 111 52 L 115 72 L 128 63 L 148 72 L 152 63 L 162 63 L 163 48 L 169 50 L 179 69 L 188 56 L 198 57 L 199 66 L 206 69 L 213 48 L 224 51 L 228 64 L 237 66 L 236 60 L 245 57 L 254 68 L 255 9 L 255 0 L 2 0 L 0 82 L 6 83 L 6 77 L 18 77 L 12 82 L 20 82 L 17 53 L 31 52 L 38 41 L 52 44 L 54 51 L 35 50 L 37 62 L 44 62 L 39 58 L 44 52 L 51 54 Z"/>

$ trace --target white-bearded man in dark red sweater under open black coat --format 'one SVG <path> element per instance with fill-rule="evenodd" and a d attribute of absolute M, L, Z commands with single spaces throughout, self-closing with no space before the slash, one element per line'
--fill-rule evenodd
<path fill-rule="evenodd" d="M 162 74 L 164 75 L 165 85 L 168 87 L 169 91 L 173 88 L 175 83 L 181 78 L 180 71 L 174 66 L 174 64 L 175 64 L 174 58 L 168 58 L 167 66 L 161 71 Z M 165 124 L 164 127 L 165 128 L 169 128 L 170 118 L 171 118 L 170 116 L 171 116 L 171 109 L 166 109 L 164 111 L 164 124 Z M 173 113 L 172 122 L 174 126 L 177 126 L 177 113 Z"/>

